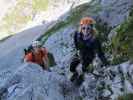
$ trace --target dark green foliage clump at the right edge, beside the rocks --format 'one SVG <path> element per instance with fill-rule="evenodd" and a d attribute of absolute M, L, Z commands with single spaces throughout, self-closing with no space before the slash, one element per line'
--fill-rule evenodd
<path fill-rule="evenodd" d="M 120 58 L 133 60 L 133 10 L 129 18 L 116 28 L 116 32 L 112 40 L 113 50 Z"/>

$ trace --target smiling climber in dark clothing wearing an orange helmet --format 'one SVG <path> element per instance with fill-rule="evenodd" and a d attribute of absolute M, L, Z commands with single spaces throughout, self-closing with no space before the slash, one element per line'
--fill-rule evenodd
<path fill-rule="evenodd" d="M 74 34 L 74 44 L 77 53 L 70 64 L 70 71 L 73 73 L 71 81 L 78 78 L 79 84 L 82 84 L 85 72 L 93 72 L 93 69 L 88 70 L 88 67 L 92 63 L 96 54 L 105 66 L 108 64 L 101 48 L 101 42 L 96 36 L 94 22 L 95 21 L 91 17 L 82 18 L 79 31 Z M 76 71 L 80 62 L 82 64 L 83 72 L 81 75 Z"/>

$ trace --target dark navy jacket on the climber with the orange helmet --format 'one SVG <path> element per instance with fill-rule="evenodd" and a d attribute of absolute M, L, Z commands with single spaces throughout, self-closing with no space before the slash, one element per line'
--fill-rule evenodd
<path fill-rule="evenodd" d="M 101 48 L 101 43 L 97 37 L 91 36 L 84 40 L 82 33 L 75 32 L 74 44 L 76 49 L 80 51 L 80 57 L 83 61 L 92 62 L 95 55 L 98 54 L 98 57 L 103 63 L 107 62 Z"/>

